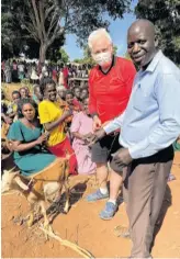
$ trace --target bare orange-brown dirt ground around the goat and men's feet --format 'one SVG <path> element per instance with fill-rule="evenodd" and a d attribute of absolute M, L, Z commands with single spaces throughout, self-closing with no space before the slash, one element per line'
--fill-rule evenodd
<path fill-rule="evenodd" d="M 161 214 L 166 213 L 162 226 L 155 239 L 154 257 L 180 257 L 180 153 L 176 154 L 171 172 L 177 180 L 169 182 Z M 98 257 L 127 257 L 131 240 L 117 237 L 114 228 L 127 226 L 124 204 L 113 219 L 99 218 L 104 201 L 88 204 L 85 196 L 93 191 L 94 182 L 82 177 L 74 177 L 71 209 L 67 215 L 58 214 L 53 222 L 53 229 L 61 238 L 77 243 Z M 25 199 L 18 193 L 2 196 L 2 257 L 3 258 L 77 258 L 78 254 L 63 247 L 54 239 L 45 240 L 36 223 L 32 228 L 21 222 L 29 212 Z"/>

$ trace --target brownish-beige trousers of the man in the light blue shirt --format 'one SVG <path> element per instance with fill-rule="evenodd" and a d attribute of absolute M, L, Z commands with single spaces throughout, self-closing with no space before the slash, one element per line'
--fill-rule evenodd
<path fill-rule="evenodd" d="M 132 258 L 150 257 L 154 228 L 161 210 L 172 159 L 173 150 L 169 147 L 149 158 L 134 160 L 124 168 L 123 194 L 133 241 Z"/>

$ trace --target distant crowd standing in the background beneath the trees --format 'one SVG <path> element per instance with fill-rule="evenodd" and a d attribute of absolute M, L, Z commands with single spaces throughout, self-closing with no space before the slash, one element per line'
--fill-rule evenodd
<path fill-rule="evenodd" d="M 88 64 L 52 65 L 8 59 L 1 63 L 1 79 L 7 83 L 19 82 L 23 79 L 35 83 L 43 77 L 52 77 L 56 83 L 66 83 L 68 87 L 67 76 L 68 78 L 88 78 L 90 69 L 91 66 Z"/>

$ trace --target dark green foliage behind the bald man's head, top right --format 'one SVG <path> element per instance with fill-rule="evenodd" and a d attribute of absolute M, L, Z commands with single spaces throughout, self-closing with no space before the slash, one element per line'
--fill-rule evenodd
<path fill-rule="evenodd" d="M 139 0 L 135 13 L 138 19 L 148 19 L 156 25 L 161 49 L 180 65 L 180 1 Z"/>

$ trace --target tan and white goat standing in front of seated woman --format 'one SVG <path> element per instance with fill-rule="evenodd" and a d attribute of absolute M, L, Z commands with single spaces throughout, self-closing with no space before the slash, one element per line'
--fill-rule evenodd
<path fill-rule="evenodd" d="M 66 204 L 64 212 L 69 210 L 69 188 L 68 188 L 69 161 L 68 158 L 56 158 L 56 160 L 38 173 L 32 177 L 23 177 L 19 170 L 4 170 L 2 176 L 2 193 L 10 190 L 19 190 L 23 193 L 31 205 L 27 226 L 34 222 L 35 205 L 40 205 L 44 216 L 44 227 L 48 228 L 49 219 L 46 214 L 45 202 L 54 202 L 61 194 L 63 185 L 66 190 Z"/>

